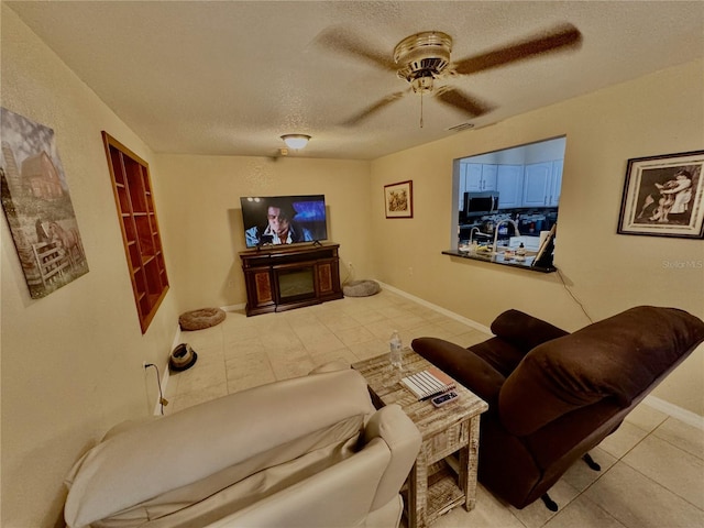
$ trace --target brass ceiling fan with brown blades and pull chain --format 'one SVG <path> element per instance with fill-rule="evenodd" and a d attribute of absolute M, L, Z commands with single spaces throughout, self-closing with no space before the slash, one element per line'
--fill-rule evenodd
<path fill-rule="evenodd" d="M 370 105 L 343 124 L 358 124 L 399 100 L 406 94 L 415 92 L 421 96 L 420 125 L 422 127 L 424 95 L 431 95 L 438 101 L 472 118 L 484 116 L 495 108 L 493 105 L 443 81 L 549 53 L 579 48 L 582 44 L 582 34 L 572 24 L 561 24 L 454 63 L 450 58 L 452 37 L 440 31 L 424 31 L 407 36 L 394 48 L 393 59 L 371 48 L 360 38 L 340 30 L 328 30 L 319 36 L 318 41 L 332 51 L 354 56 L 385 70 L 396 72 L 399 78 L 410 85 L 405 90 L 389 94 Z"/>

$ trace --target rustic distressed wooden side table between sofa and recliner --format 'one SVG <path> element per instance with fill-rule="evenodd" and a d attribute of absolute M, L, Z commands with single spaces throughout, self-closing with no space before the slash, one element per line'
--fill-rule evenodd
<path fill-rule="evenodd" d="M 400 378 L 432 366 L 411 349 L 404 349 L 404 371 L 389 370 L 388 355 L 352 365 L 370 387 L 374 405 L 398 404 L 422 435 L 422 444 L 407 481 L 406 514 L 409 528 L 424 528 L 450 509 L 464 504 L 469 512 L 476 497 L 480 416 L 488 405 L 459 383 L 459 398 L 436 408 L 418 402 Z"/>

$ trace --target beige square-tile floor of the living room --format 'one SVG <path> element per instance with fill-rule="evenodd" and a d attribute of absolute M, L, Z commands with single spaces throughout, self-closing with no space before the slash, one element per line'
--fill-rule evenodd
<path fill-rule="evenodd" d="M 388 290 L 280 314 L 229 312 L 219 326 L 183 332 L 196 365 L 172 374 L 165 414 L 276 380 L 307 374 L 336 359 L 383 354 L 399 331 L 405 344 L 433 336 L 469 346 L 487 338 L 457 319 Z M 476 508 L 455 508 L 432 528 L 674 528 L 704 526 L 704 430 L 640 405 L 594 451 L 602 465 L 573 466 L 540 501 L 518 510 L 481 485 Z"/>

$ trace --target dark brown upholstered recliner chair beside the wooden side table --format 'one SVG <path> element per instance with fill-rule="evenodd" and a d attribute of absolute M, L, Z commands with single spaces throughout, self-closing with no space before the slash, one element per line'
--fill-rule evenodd
<path fill-rule="evenodd" d="M 495 337 L 464 349 L 419 338 L 413 349 L 488 403 L 479 479 L 524 508 L 542 498 L 580 458 L 704 341 L 704 322 L 674 308 L 640 306 L 568 333 L 517 310 Z M 593 469 L 598 469 L 594 464 Z"/>

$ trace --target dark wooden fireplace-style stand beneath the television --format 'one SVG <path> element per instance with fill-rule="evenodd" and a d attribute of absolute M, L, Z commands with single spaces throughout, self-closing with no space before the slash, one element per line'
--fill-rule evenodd
<path fill-rule="evenodd" d="M 246 315 L 341 299 L 340 244 L 271 245 L 240 253 Z"/>

